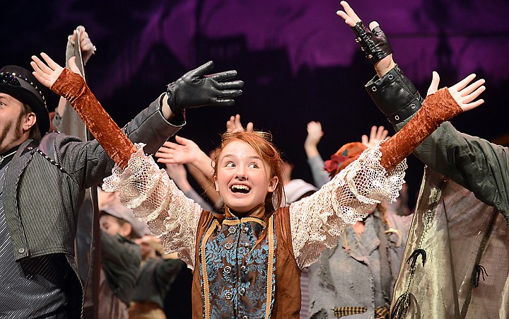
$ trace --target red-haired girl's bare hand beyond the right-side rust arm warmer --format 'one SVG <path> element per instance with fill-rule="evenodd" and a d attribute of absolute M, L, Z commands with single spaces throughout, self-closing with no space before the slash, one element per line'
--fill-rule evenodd
<path fill-rule="evenodd" d="M 483 99 L 476 100 L 476 98 L 486 90 L 486 86 L 483 85 L 485 81 L 484 79 L 479 79 L 474 83 L 470 83 L 474 81 L 475 77 L 475 74 L 470 74 L 462 79 L 462 81 L 448 88 L 452 98 L 456 100 L 456 103 L 458 103 L 464 111 L 472 110 L 484 103 Z M 436 71 L 433 71 L 433 79 L 431 80 L 427 95 L 438 91 L 438 83 L 440 83 L 440 76 Z"/>

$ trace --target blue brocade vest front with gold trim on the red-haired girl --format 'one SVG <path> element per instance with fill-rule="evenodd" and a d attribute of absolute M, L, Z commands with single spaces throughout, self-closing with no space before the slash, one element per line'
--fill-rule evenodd
<path fill-rule="evenodd" d="M 226 209 L 213 219 L 199 244 L 204 318 L 269 318 L 276 289 L 274 215 L 264 208 L 238 218 Z M 267 228 L 267 229 L 266 229 Z"/>

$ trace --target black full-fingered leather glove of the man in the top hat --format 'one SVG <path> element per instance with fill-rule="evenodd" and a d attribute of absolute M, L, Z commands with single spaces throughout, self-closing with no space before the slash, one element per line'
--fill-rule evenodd
<path fill-rule="evenodd" d="M 230 70 L 206 76 L 205 74 L 212 68 L 213 62 L 209 61 L 166 86 L 168 105 L 173 114 L 180 114 L 187 108 L 235 104 L 233 98 L 242 94 L 240 88 L 244 86 L 244 82 L 228 80 L 237 76 L 237 71 Z"/>

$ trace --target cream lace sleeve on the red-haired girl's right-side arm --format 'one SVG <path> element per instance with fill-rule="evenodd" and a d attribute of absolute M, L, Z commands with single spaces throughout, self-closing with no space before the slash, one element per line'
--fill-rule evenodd
<path fill-rule="evenodd" d="M 365 150 L 310 197 L 290 205 L 293 253 L 299 267 L 316 262 L 325 248 L 337 245 L 341 231 L 368 215 L 382 200 L 394 202 L 404 183 L 406 161 L 387 170 L 380 146 Z"/>

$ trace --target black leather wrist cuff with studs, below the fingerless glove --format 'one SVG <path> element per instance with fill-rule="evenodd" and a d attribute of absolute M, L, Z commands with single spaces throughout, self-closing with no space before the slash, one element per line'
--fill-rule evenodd
<path fill-rule="evenodd" d="M 393 125 L 414 115 L 423 103 L 417 88 L 397 65 L 382 78 L 375 76 L 365 85 L 365 89 Z"/>

